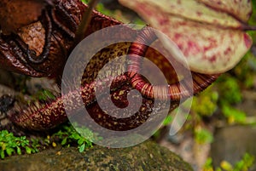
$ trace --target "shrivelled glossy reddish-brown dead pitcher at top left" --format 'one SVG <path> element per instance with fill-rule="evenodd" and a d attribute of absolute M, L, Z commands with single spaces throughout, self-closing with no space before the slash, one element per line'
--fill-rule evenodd
<path fill-rule="evenodd" d="M 0 67 L 32 77 L 58 77 L 61 75 L 67 57 L 73 49 L 74 39 L 69 33 L 72 35 L 75 33 L 87 6 L 79 0 L 56 0 L 54 1 L 55 6 L 48 7 L 48 9 L 54 9 L 52 14 L 49 14 L 49 16 L 51 16 L 50 22 L 53 26 L 49 38 L 49 55 L 43 63 L 32 64 L 25 59 L 26 53 L 21 52 L 18 45 L 14 44 L 16 37 L 13 35 L 10 37 L 3 36 L 3 33 L 18 31 L 21 39 L 29 45 L 31 50 L 37 49 L 37 54 L 42 51 L 42 46 L 45 45 L 45 29 L 43 26 L 45 25 L 45 23 L 43 24 L 45 16 L 41 14 L 39 8 L 41 6 L 33 6 L 33 4 L 30 4 L 31 2 L 41 4 L 42 1 L 0 2 L 0 25 L 3 30 L 2 34 L 0 34 Z M 19 7 L 19 10 L 22 9 L 25 11 L 16 10 L 15 8 L 17 7 Z M 32 10 L 35 10 L 37 13 L 34 14 L 33 12 L 35 11 Z M 63 11 L 60 12 L 60 10 L 66 11 L 67 15 L 63 15 Z M 38 11 L 40 11 L 40 13 Z M 49 11 L 50 10 L 48 10 L 48 12 Z M 55 20 L 53 17 L 55 17 Z M 41 25 L 39 25 L 38 22 L 41 22 Z M 35 24 L 32 23 L 37 24 L 35 26 Z M 113 20 L 108 16 L 94 11 L 85 36 L 104 27 L 118 24 L 120 24 L 118 20 Z M 12 44 L 10 42 L 12 42 Z"/>

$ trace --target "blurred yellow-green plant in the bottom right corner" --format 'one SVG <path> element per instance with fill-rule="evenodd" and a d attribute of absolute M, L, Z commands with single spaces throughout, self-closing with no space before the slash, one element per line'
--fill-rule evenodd
<path fill-rule="evenodd" d="M 234 165 L 230 162 L 223 161 L 220 166 L 213 169 L 212 158 L 207 158 L 207 162 L 204 165 L 203 171 L 248 171 L 254 162 L 254 157 L 248 153 L 245 153 L 240 161 L 236 162 Z"/>

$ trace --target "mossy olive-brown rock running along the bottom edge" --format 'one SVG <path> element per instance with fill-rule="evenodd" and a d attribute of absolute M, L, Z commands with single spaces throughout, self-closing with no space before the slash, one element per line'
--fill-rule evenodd
<path fill-rule="evenodd" d="M 172 151 L 147 141 L 122 149 L 108 149 L 96 145 L 83 153 L 79 153 L 77 148 L 69 147 L 7 157 L 0 162 L 0 170 L 189 171 L 192 168 Z"/>

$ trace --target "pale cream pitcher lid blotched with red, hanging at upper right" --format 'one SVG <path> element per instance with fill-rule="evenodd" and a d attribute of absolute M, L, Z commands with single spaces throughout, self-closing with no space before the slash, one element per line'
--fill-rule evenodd
<path fill-rule="evenodd" d="M 252 45 L 243 31 L 252 9 L 247 0 L 229 0 L 233 3 L 228 7 L 216 0 L 212 4 L 207 0 L 119 1 L 164 32 L 169 39 L 159 35 L 163 45 L 176 60 L 183 62 L 184 57 L 192 71 L 228 71 Z"/>

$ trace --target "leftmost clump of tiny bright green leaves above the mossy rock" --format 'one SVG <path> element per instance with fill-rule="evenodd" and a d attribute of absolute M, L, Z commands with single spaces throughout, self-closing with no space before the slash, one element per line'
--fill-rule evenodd
<path fill-rule="evenodd" d="M 7 130 L 0 132 L 0 156 L 3 159 L 6 156 L 13 154 L 20 155 L 22 151 L 26 151 L 27 154 L 38 152 L 38 148 L 35 144 L 30 144 L 29 140 L 26 140 L 26 136 L 15 137 L 14 134 L 9 133 Z"/>

